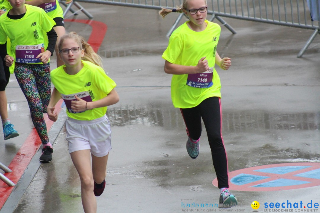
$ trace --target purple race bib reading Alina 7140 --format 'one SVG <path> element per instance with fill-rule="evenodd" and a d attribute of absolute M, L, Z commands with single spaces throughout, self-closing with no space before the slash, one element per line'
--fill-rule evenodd
<path fill-rule="evenodd" d="M 212 87 L 213 67 L 205 72 L 188 74 L 187 85 L 196 88 Z"/>

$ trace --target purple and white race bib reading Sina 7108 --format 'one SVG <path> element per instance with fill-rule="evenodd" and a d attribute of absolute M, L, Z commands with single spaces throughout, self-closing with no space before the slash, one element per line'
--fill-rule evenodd
<path fill-rule="evenodd" d="M 44 52 L 44 44 L 37 45 L 17 45 L 16 46 L 16 62 L 18 63 L 39 63 L 40 58 L 36 58 L 40 53 Z"/>

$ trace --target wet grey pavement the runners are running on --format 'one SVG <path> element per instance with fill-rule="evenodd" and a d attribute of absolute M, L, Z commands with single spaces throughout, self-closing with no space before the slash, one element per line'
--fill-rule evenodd
<path fill-rule="evenodd" d="M 163 20 L 154 10 L 82 5 L 94 20 L 108 26 L 98 53 L 120 96 L 119 103 L 108 107 L 112 150 L 106 190 L 97 198 L 97 212 L 173 213 L 186 209 L 181 202 L 218 203 L 206 132 L 202 133 L 199 156 L 191 159 L 185 150 L 184 122 L 170 98 L 171 76 L 163 71 L 165 34 L 177 16 L 170 14 Z M 76 19 L 86 17 L 79 14 Z M 268 164 L 319 163 L 320 35 L 303 57 L 297 58 L 312 31 L 226 20 L 237 31 L 232 35 L 222 27 L 217 49 L 221 57 L 232 59 L 228 71 L 217 68 L 229 171 Z M 90 35 L 87 25 L 65 25 L 67 31 L 86 38 Z M 51 67 L 55 68 L 55 57 Z M 33 125 L 14 75 L 6 92 L 9 117 L 20 133 L 8 141 L 0 139 L 0 162 L 8 165 Z M 24 194 L 19 203 L 13 204 L 14 208 L 6 203 L 1 213 L 83 212 L 80 180 L 65 140 L 66 118 L 63 109 L 60 122 L 52 127 L 56 131 L 51 136 L 56 138 L 52 162 L 40 165 L 25 192 L 20 189 Z M 39 166 L 37 159 L 33 161 Z M 264 202 L 287 199 L 292 203 L 320 202 L 320 186 L 232 192 L 243 212 L 252 212 L 255 200 L 261 207 Z M 261 207 L 258 211 L 263 212 Z"/>

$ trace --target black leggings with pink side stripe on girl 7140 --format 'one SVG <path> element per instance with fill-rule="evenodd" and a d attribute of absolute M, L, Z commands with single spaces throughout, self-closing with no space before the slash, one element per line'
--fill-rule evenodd
<path fill-rule="evenodd" d="M 201 136 L 202 118 L 208 135 L 213 167 L 218 179 L 218 187 L 228 188 L 228 163 L 221 133 L 220 97 L 210 97 L 196 107 L 180 110 L 187 127 L 187 134 L 193 140 L 198 140 Z"/>

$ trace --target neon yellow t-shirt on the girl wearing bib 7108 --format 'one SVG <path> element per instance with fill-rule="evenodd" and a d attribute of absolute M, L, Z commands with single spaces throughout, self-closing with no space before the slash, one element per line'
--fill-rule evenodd
<path fill-rule="evenodd" d="M 36 56 L 47 49 L 46 33 L 52 29 L 55 22 L 41 8 L 28 4 L 25 6 L 27 11 L 21 19 L 8 18 L 9 11 L 0 16 L 0 44 L 4 44 L 7 38 L 10 39 L 7 53 L 15 62 L 42 64 Z M 10 68 L 13 73 L 14 64 Z"/>

